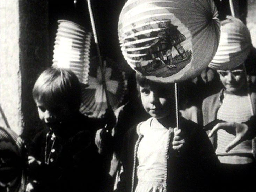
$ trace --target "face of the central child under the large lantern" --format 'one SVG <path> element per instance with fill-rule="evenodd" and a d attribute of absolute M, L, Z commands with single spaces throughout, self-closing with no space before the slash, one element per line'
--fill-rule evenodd
<path fill-rule="evenodd" d="M 140 97 L 146 112 L 156 119 L 170 115 L 174 100 L 174 90 L 167 86 L 140 87 Z"/>

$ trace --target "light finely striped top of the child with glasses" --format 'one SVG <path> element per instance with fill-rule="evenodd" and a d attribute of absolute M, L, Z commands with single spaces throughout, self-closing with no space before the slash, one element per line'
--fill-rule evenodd
<path fill-rule="evenodd" d="M 237 96 L 224 93 L 223 103 L 217 113 L 217 119 L 234 121 L 237 123 L 246 122 L 251 117 L 250 103 L 248 96 Z M 241 153 L 251 154 L 251 140 L 244 141 L 226 153 L 226 146 L 235 139 L 235 136 L 224 130 L 219 130 L 217 141 L 217 155 L 237 155 Z"/>

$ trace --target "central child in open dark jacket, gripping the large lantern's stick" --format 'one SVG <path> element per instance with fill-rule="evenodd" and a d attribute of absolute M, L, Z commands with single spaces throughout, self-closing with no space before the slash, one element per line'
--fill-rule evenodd
<path fill-rule="evenodd" d="M 206 133 L 196 123 L 175 119 L 174 84 L 136 75 L 148 120 L 125 135 L 123 173 L 117 191 L 213 191 L 218 159 Z"/>

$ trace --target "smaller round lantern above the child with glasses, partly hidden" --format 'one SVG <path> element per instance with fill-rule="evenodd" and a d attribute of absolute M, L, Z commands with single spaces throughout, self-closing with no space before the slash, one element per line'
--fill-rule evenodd
<path fill-rule="evenodd" d="M 232 16 L 227 16 L 220 24 L 219 47 L 209 67 L 216 70 L 233 69 L 241 65 L 249 55 L 250 32 L 242 21 Z"/>

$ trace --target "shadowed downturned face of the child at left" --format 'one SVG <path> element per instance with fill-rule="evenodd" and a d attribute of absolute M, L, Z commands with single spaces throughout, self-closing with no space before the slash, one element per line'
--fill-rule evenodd
<path fill-rule="evenodd" d="M 41 101 L 36 100 L 35 102 L 40 120 L 51 128 L 59 126 L 62 121 L 67 120 L 71 115 L 68 106 L 65 104 L 50 108 Z"/>

